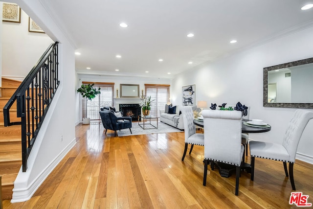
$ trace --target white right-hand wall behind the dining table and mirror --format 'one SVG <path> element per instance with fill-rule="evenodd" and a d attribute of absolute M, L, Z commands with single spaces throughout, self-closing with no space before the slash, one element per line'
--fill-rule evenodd
<path fill-rule="evenodd" d="M 295 109 L 263 107 L 263 68 L 313 57 L 312 37 L 313 27 L 181 73 L 172 83 L 173 104 L 181 104 L 182 86 L 196 84 L 196 101 L 217 105 L 240 101 L 251 107 L 250 119 L 263 119 L 272 126 L 267 133 L 250 134 L 251 139 L 282 143 Z M 297 154 L 311 163 L 312 136 L 313 120 L 302 135 Z"/>

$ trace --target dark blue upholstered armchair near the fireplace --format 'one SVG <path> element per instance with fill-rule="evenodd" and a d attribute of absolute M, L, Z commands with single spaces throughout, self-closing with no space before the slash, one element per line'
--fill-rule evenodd
<path fill-rule="evenodd" d="M 114 137 L 116 136 L 116 131 L 129 128 L 132 134 L 132 117 L 123 117 L 119 115 L 117 117 L 116 115 L 120 114 L 118 113 L 113 113 L 113 111 L 100 111 L 100 116 L 102 120 L 103 127 L 106 129 L 105 134 L 107 134 L 108 129 L 114 131 Z"/>

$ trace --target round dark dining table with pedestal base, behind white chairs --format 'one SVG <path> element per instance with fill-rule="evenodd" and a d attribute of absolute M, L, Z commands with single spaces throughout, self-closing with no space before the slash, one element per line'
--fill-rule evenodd
<path fill-rule="evenodd" d="M 263 126 L 256 126 L 256 125 L 252 125 L 247 123 L 248 119 L 242 119 L 242 133 L 264 133 L 264 132 L 268 132 L 271 129 L 270 125 L 263 125 Z M 204 127 L 204 123 L 203 123 L 203 119 L 198 119 L 195 118 L 193 120 L 193 123 L 197 126 L 200 127 Z M 217 165 L 219 167 L 219 173 L 222 177 L 229 177 L 231 176 L 231 173 L 236 169 L 233 165 L 230 164 L 226 164 L 226 163 L 220 163 L 220 162 L 214 162 L 215 165 Z M 242 162 L 241 164 L 241 169 L 245 170 L 247 173 L 251 173 L 251 165 L 249 163 L 246 162 Z"/>

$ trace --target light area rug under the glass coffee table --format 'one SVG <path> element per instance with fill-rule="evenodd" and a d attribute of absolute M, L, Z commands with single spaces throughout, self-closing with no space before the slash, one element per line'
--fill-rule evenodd
<path fill-rule="evenodd" d="M 142 122 L 140 122 L 142 123 Z M 151 123 L 156 126 L 156 121 L 151 121 Z M 151 125 L 146 125 L 145 128 L 152 128 Z M 142 134 L 161 134 L 161 133 L 170 133 L 170 132 L 183 132 L 180 131 L 178 128 L 174 128 L 173 126 L 167 125 L 163 122 L 158 122 L 157 129 L 143 129 L 138 125 L 138 122 L 133 122 L 132 124 L 132 133 L 129 129 L 122 129 L 121 131 L 117 131 L 117 136 L 124 137 L 130 135 L 142 135 Z"/>

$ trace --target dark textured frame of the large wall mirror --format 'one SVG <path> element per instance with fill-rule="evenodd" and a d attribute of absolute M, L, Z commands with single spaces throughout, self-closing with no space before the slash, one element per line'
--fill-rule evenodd
<path fill-rule="evenodd" d="M 268 71 L 313 63 L 313 58 L 275 65 L 263 69 L 263 107 L 313 108 L 313 103 L 268 103 Z"/>

